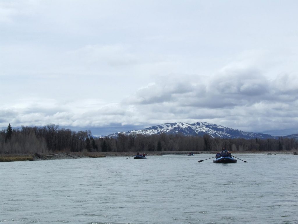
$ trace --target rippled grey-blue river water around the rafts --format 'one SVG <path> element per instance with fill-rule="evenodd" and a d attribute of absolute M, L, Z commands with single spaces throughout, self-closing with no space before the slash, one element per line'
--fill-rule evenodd
<path fill-rule="evenodd" d="M 236 155 L 236 154 L 235 154 Z M 298 156 L 0 163 L 0 223 L 298 223 Z"/>

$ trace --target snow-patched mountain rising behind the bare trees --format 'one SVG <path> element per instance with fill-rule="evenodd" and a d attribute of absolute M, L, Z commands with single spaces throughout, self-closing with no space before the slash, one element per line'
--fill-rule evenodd
<path fill-rule="evenodd" d="M 119 134 L 124 135 L 153 135 L 153 134 L 182 134 L 187 136 L 203 136 L 204 134 L 208 134 L 212 137 L 220 137 L 220 138 L 244 138 L 244 139 L 252 139 L 252 138 L 274 138 L 274 136 L 268 134 L 257 134 L 253 132 L 240 131 L 232 128 L 226 128 L 221 125 L 209 124 L 207 122 L 196 122 L 194 124 L 188 123 L 166 123 L 162 125 L 152 126 L 150 128 L 145 128 L 143 130 L 134 130 L 127 132 L 117 132 L 114 134 L 107 135 L 105 137 L 117 137 Z"/>

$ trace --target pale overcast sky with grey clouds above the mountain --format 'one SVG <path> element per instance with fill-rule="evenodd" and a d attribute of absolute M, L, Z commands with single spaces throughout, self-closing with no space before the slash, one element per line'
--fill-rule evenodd
<path fill-rule="evenodd" d="M 0 129 L 298 133 L 298 1 L 0 0 Z"/>

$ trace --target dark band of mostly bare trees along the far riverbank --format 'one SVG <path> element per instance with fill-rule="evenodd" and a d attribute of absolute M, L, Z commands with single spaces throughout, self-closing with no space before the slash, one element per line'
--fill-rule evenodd
<path fill-rule="evenodd" d="M 203 136 L 124 135 L 117 138 L 94 138 L 90 130 L 72 131 L 55 124 L 43 127 L 22 126 L 0 131 L 0 154 L 44 154 L 69 152 L 131 152 L 131 151 L 297 151 L 292 138 L 223 139 Z"/>

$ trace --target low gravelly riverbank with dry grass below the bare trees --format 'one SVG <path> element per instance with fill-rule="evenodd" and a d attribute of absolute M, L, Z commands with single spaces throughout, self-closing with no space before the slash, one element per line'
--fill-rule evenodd
<path fill-rule="evenodd" d="M 187 151 L 162 151 L 162 152 L 143 152 L 147 156 L 162 155 L 187 155 Z M 0 154 L 0 162 L 15 161 L 38 161 L 51 159 L 86 159 L 86 158 L 104 158 L 104 157 L 132 157 L 137 152 L 88 152 L 88 153 L 57 153 L 57 154 Z M 192 151 L 194 155 L 216 154 L 216 151 Z M 264 154 L 264 155 L 297 155 L 296 151 L 244 151 L 231 152 L 233 154 Z"/>

